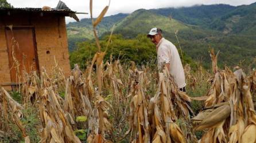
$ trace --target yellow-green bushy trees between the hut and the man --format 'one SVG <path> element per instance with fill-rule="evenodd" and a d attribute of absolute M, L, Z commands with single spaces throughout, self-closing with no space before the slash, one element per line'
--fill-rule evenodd
<path fill-rule="evenodd" d="M 104 37 L 100 44 L 103 49 L 107 46 L 108 37 Z M 86 61 L 91 61 L 97 51 L 94 41 L 78 43 L 76 51 L 70 54 L 71 66 L 79 63 L 82 68 L 86 67 Z M 156 46 L 145 35 L 138 35 L 134 39 L 123 39 L 121 35 L 113 35 L 108 47 L 105 61 L 112 55 L 113 59 L 134 61 L 136 63 L 147 62 L 156 58 Z"/>

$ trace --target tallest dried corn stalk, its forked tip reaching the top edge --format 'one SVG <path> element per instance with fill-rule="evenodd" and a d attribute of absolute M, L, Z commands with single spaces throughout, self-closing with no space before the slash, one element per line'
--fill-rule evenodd
<path fill-rule="evenodd" d="M 110 2 L 110 1 L 109 1 Z M 108 3 L 108 6 L 110 3 Z M 90 1 L 90 13 L 91 13 L 91 19 L 92 19 L 92 26 L 94 28 L 94 35 L 95 35 L 95 40 L 96 40 L 96 45 L 98 46 L 98 52 L 94 55 L 94 58 L 92 59 L 89 75 L 87 78 L 88 81 L 88 89 L 89 92 L 92 93 L 92 84 L 91 84 L 91 73 L 92 73 L 92 66 L 94 63 L 96 63 L 96 78 L 97 78 L 97 83 L 98 83 L 98 91 L 96 92 L 96 104 L 95 104 L 95 113 L 96 115 L 92 117 L 90 120 L 97 120 L 91 121 L 92 124 L 90 124 L 90 135 L 87 138 L 87 142 L 106 142 L 106 139 L 104 137 L 104 131 L 106 128 L 110 128 L 111 124 L 108 122 L 108 114 L 107 114 L 107 102 L 102 98 L 102 83 L 103 83 L 103 58 L 104 55 L 106 54 L 106 51 L 101 51 L 101 46 L 99 43 L 99 38 L 98 35 L 96 34 L 96 26 L 98 23 L 102 20 L 104 15 L 106 14 L 108 10 L 108 6 L 106 6 L 103 10 L 102 13 L 100 13 L 99 17 L 94 21 L 92 18 L 92 0 Z M 113 31 L 113 30 L 112 30 Z M 112 33 L 112 32 L 111 32 Z M 111 35 L 110 35 L 111 37 Z M 108 39 L 108 42 L 110 39 Z M 107 50 L 107 47 L 106 47 Z M 103 116 L 103 114 L 105 116 Z M 93 127 L 93 125 L 95 125 Z M 106 127 L 107 126 L 107 127 Z"/>

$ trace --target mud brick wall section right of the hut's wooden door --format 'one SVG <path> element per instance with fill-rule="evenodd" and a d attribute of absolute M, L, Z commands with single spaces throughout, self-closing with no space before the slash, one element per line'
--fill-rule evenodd
<path fill-rule="evenodd" d="M 46 21 L 46 23 L 42 23 L 42 21 Z M 45 67 L 46 71 L 51 74 L 56 59 L 66 76 L 68 76 L 70 65 L 65 17 L 35 18 L 33 25 L 35 26 L 40 70 L 41 67 Z"/>

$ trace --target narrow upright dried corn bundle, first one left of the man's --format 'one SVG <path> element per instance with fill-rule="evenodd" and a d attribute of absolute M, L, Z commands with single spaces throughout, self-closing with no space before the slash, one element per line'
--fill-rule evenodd
<path fill-rule="evenodd" d="M 133 69 L 131 74 L 135 81 L 131 82 L 131 104 L 129 114 L 130 142 L 150 142 L 150 126 L 148 121 L 148 101 L 143 93 L 143 72 Z"/>

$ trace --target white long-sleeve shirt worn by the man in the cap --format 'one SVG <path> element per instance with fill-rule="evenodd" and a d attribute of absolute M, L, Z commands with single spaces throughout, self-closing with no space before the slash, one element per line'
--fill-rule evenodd
<path fill-rule="evenodd" d="M 172 42 L 162 38 L 157 44 L 157 66 L 161 69 L 162 65 L 170 63 L 170 74 L 174 77 L 174 80 L 178 88 L 184 88 L 185 74 L 183 65 L 180 60 L 179 52 L 176 46 Z"/>

